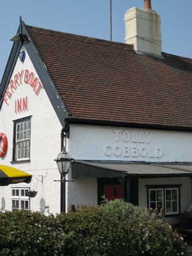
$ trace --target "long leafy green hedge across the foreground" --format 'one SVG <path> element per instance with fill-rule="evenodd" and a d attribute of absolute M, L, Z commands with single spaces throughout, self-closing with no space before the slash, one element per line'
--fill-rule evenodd
<path fill-rule="evenodd" d="M 187 255 L 187 246 L 169 225 L 118 200 L 56 217 L 0 213 L 0 223 L 0 255 Z"/>

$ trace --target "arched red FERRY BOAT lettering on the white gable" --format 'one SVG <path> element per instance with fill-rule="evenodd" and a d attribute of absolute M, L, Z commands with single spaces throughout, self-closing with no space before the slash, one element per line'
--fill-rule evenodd
<path fill-rule="evenodd" d="M 8 105 L 13 93 L 23 84 L 29 84 L 36 95 L 39 95 L 39 92 L 43 87 L 39 81 L 39 78 L 37 78 L 33 72 L 30 72 L 28 69 L 20 70 L 20 72 L 13 75 L 13 78 L 7 86 L 4 95 L 5 104 Z"/>

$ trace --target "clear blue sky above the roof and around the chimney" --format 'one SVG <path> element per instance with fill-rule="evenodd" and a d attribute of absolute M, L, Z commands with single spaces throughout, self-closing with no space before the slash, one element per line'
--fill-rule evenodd
<path fill-rule="evenodd" d="M 112 0 L 113 40 L 124 42 L 125 11 L 143 7 L 143 0 Z M 192 1 L 152 0 L 161 16 L 163 51 L 192 58 Z M 0 81 L 10 54 L 10 37 L 16 34 L 19 16 L 28 25 L 73 34 L 110 39 L 110 0 L 7 0 L 1 2 Z"/>

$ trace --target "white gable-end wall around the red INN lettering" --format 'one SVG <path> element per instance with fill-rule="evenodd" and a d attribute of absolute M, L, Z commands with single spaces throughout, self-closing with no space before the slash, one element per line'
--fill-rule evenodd
<path fill-rule="evenodd" d="M 23 48 L 23 50 L 25 50 Z M 24 63 L 19 59 L 13 71 L 12 78 L 20 70 L 28 69 L 34 72 L 31 60 L 26 52 Z M 24 96 L 28 97 L 28 110 L 21 113 L 14 112 L 15 101 Z M 31 117 L 31 162 L 11 164 L 13 154 L 13 120 L 22 117 Z M 33 175 L 31 184 L 20 183 L 8 187 L 0 187 L 0 204 L 2 198 L 5 198 L 5 209 L 11 210 L 11 187 L 30 187 L 31 190 L 37 190 L 36 198 L 31 198 L 31 210 L 40 210 L 40 200 L 43 198 L 45 204 L 49 206 L 51 213 L 60 212 L 60 183 L 54 180 L 60 180 L 57 164 L 54 158 L 60 152 L 60 133 L 61 124 L 55 114 L 54 108 L 49 102 L 44 89 L 41 89 L 39 95 L 34 93 L 29 84 L 23 83 L 13 92 L 8 105 L 4 102 L 0 111 L 0 131 L 5 133 L 8 139 L 8 150 L 5 157 L 0 158 L 0 164 L 16 167 Z"/>

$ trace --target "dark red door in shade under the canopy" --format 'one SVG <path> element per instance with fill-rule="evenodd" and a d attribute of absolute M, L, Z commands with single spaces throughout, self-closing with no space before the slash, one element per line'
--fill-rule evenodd
<path fill-rule="evenodd" d="M 120 184 L 104 184 L 104 196 L 108 200 L 121 198 Z"/>

